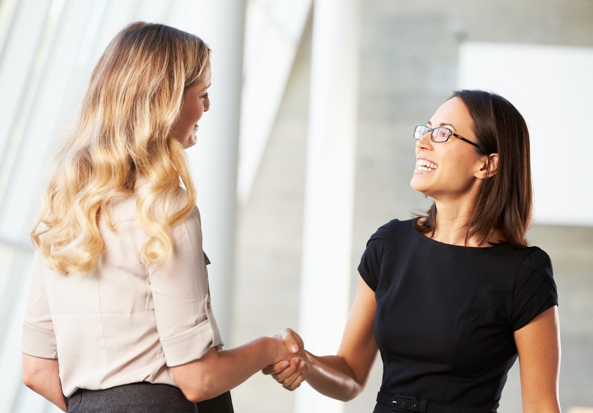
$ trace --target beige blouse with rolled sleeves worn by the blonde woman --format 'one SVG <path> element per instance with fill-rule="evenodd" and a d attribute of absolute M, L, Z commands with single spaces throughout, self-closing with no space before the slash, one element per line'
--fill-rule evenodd
<path fill-rule="evenodd" d="M 177 209 L 186 199 L 180 190 Z M 66 397 L 79 387 L 175 385 L 168 367 L 222 347 L 197 208 L 172 228 L 173 258 L 161 269 L 139 259 L 146 233 L 136 196 L 113 205 L 110 217 L 116 231 L 100 219 L 105 250 L 90 274 L 60 275 L 39 253 L 33 262 L 21 351 L 58 358 Z"/>

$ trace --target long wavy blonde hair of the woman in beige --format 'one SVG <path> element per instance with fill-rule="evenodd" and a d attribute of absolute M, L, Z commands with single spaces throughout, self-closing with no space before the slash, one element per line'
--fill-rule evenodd
<path fill-rule="evenodd" d="M 183 94 L 202 79 L 211 50 L 199 37 L 136 22 L 111 40 L 91 75 L 74 126 L 63 137 L 39 219 L 36 249 L 60 274 L 89 272 L 103 251 L 98 228 L 109 205 L 136 192 L 148 234 L 145 265 L 173 255 L 170 229 L 195 208 L 195 186 L 181 144 L 171 136 Z M 171 215 L 183 183 L 187 204 Z"/>

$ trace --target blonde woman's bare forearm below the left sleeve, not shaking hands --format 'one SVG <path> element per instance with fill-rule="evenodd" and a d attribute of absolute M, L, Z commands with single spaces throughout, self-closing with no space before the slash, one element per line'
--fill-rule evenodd
<path fill-rule="evenodd" d="M 33 357 L 23 353 L 23 383 L 66 411 L 66 398 L 62 392 L 58 360 Z"/>

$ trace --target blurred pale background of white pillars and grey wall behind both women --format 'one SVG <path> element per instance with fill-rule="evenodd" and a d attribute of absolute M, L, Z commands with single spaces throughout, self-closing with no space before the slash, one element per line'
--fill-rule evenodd
<path fill-rule="evenodd" d="M 368 237 L 429 200 L 409 187 L 413 126 L 455 88 L 502 94 L 531 132 L 530 242 L 559 290 L 560 402 L 593 409 L 591 0 L 0 0 L 0 412 L 55 412 L 20 378 L 48 154 L 109 40 L 135 20 L 212 50 L 211 110 L 188 150 L 226 347 L 290 326 L 337 350 Z M 430 259 L 429 257 L 427 259 Z M 256 374 L 235 411 L 371 411 Z M 521 412 L 518 366 L 499 412 Z"/>

